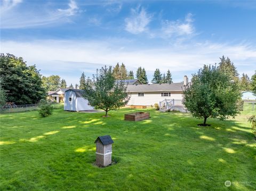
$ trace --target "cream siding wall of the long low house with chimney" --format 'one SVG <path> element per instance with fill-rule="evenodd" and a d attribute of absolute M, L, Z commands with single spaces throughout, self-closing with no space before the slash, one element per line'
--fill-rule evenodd
<path fill-rule="evenodd" d="M 138 96 L 137 93 L 129 93 L 131 95 L 130 101 L 127 105 L 154 105 L 163 101 L 164 99 L 182 99 L 182 92 L 171 92 L 170 97 L 162 97 L 162 92 L 141 92 L 144 93 L 143 97 Z"/>

